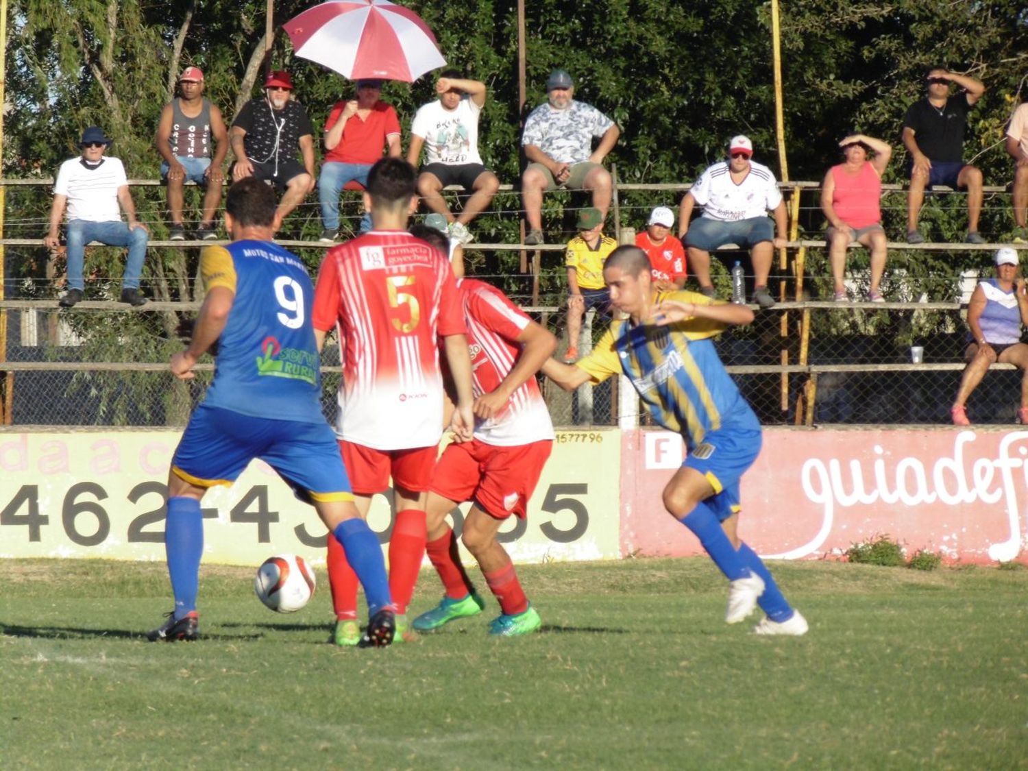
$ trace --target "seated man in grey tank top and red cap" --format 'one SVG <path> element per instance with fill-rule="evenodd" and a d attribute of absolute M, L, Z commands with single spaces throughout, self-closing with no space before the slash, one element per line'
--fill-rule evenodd
<path fill-rule="evenodd" d="M 160 153 L 160 177 L 168 185 L 168 213 L 172 225 L 168 237 L 184 241 L 182 218 L 183 187 L 187 181 L 204 188 L 204 213 L 196 228 L 196 237 L 214 241 L 218 237 L 215 213 L 221 203 L 224 183 L 222 163 L 228 154 L 228 131 L 221 110 L 204 96 L 204 72 L 198 67 L 186 67 L 179 77 L 179 96 L 160 111 L 154 144 Z M 211 154 L 211 140 L 215 142 Z"/>

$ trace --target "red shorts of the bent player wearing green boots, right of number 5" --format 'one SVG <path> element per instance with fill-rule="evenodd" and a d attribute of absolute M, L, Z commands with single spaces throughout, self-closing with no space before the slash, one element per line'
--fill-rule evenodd
<path fill-rule="evenodd" d="M 436 464 L 429 489 L 450 501 L 474 501 L 491 517 L 524 519 L 553 442 L 498 447 L 477 439 L 453 442 Z"/>

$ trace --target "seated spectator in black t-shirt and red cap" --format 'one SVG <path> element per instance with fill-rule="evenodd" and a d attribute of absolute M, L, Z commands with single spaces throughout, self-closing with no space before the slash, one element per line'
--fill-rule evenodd
<path fill-rule="evenodd" d="M 235 154 L 232 180 L 271 180 L 285 191 L 274 213 L 274 230 L 315 189 L 314 128 L 303 106 L 290 99 L 293 80 L 276 70 L 264 80 L 264 96 L 243 105 L 232 121 L 229 143 Z M 302 166 L 296 160 L 300 147 Z"/>

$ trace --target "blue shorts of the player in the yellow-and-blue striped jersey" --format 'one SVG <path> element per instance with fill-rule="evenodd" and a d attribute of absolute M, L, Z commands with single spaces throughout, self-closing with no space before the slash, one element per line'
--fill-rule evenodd
<path fill-rule="evenodd" d="M 689 451 L 682 465 L 696 469 L 710 482 L 714 494 L 704 503 L 724 522 L 739 510 L 739 480 L 760 453 L 760 431 L 711 431 Z"/>

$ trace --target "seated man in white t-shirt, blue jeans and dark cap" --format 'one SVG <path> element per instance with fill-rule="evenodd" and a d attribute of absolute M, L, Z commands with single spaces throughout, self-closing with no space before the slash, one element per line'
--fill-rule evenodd
<path fill-rule="evenodd" d="M 118 158 L 104 157 L 110 144 L 111 140 L 104 136 L 102 128 L 90 125 L 82 132 L 79 142 L 82 154 L 62 163 L 53 183 L 50 229 L 43 237 L 43 246 L 58 248 L 58 230 L 67 207 L 68 291 L 61 298 L 61 307 L 71 307 L 82 299 L 85 245 L 93 241 L 128 248 L 121 277 L 121 302 L 130 305 L 146 302 L 139 292 L 139 276 L 146 259 L 149 235 L 146 226 L 136 219 L 136 204 L 128 190 L 124 167 Z M 122 222 L 121 212 L 127 222 Z"/>

